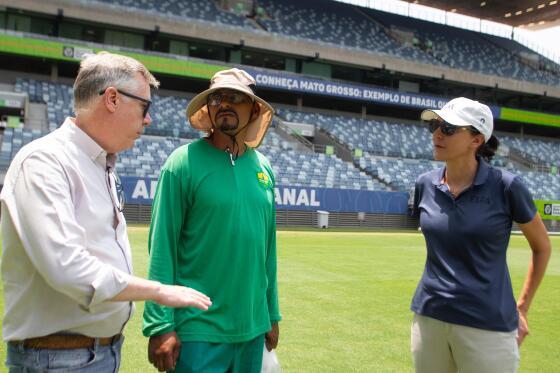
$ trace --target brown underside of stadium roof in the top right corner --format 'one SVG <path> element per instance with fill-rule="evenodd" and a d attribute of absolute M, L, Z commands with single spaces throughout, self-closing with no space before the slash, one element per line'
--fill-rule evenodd
<path fill-rule="evenodd" d="M 404 0 L 513 27 L 543 29 L 560 24 L 559 0 Z"/>

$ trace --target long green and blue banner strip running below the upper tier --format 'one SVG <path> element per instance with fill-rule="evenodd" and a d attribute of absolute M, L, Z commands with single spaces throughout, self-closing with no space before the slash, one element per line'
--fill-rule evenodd
<path fill-rule="evenodd" d="M 172 74 L 176 76 L 209 79 L 215 72 L 228 66 L 200 62 L 188 57 L 159 56 L 141 52 L 97 46 L 81 42 L 36 39 L 28 36 L 17 36 L 0 33 L 0 52 L 25 55 L 30 57 L 49 58 L 62 61 L 78 62 L 87 53 L 108 50 L 136 58 L 152 72 Z M 449 97 L 438 97 L 427 94 L 399 92 L 392 89 L 378 88 L 363 84 L 340 83 L 281 71 L 260 70 L 242 66 L 255 77 L 257 86 L 279 89 L 297 93 L 319 94 L 332 97 L 347 98 L 378 104 L 395 105 L 417 109 L 439 109 L 450 100 Z M 532 123 L 544 126 L 560 126 L 560 116 L 527 110 L 490 106 L 496 119 L 521 123 Z"/>

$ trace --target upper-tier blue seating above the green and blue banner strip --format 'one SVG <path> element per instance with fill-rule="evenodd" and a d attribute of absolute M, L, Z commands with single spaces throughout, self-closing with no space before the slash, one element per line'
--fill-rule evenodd
<path fill-rule="evenodd" d="M 334 1 L 260 0 L 259 8 L 264 11 L 251 17 L 220 9 L 210 0 L 87 1 L 182 21 L 197 19 L 251 32 L 264 31 L 336 47 L 357 48 L 532 83 L 560 84 L 560 66 L 516 41 Z"/>

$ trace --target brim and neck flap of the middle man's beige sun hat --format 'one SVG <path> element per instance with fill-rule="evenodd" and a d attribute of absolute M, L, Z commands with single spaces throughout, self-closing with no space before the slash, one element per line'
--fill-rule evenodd
<path fill-rule="evenodd" d="M 220 89 L 230 89 L 245 93 L 250 96 L 259 105 L 259 116 L 247 126 L 247 136 L 245 137 L 245 144 L 251 148 L 257 148 L 266 134 L 272 118 L 274 116 L 274 109 L 268 102 L 256 96 L 249 89 L 233 88 L 230 85 L 218 86 L 215 85 L 198 95 L 196 95 L 187 105 L 186 115 L 190 125 L 200 131 L 210 131 L 212 129 L 212 121 L 208 114 L 208 106 L 206 105 L 208 95 Z"/>

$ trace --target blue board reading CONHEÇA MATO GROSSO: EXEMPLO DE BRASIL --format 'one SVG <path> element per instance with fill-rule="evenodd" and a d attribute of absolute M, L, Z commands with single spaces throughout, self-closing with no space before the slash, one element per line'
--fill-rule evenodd
<path fill-rule="evenodd" d="M 298 93 L 313 93 L 378 104 L 397 105 L 417 109 L 441 109 L 450 99 L 426 94 L 399 92 L 363 84 L 338 83 L 281 72 L 270 72 L 244 67 L 257 82 L 257 87 L 280 89 Z M 500 108 L 490 106 L 494 118 Z"/>

